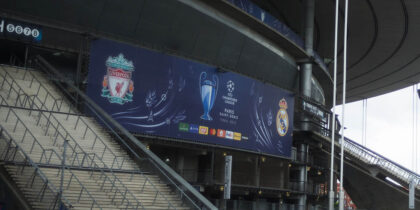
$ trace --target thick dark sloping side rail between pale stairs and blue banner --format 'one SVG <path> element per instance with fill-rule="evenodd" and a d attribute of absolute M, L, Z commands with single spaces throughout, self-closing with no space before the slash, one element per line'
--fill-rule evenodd
<path fill-rule="evenodd" d="M 83 105 L 86 109 L 89 110 L 89 113 L 92 114 L 108 131 L 114 136 L 114 139 L 119 141 L 128 152 L 136 160 L 147 160 L 151 169 L 154 170 L 161 179 L 164 179 L 167 184 L 173 187 L 175 191 L 179 194 L 181 199 L 187 202 L 191 207 L 195 209 L 217 209 L 209 200 L 207 200 L 200 192 L 198 192 L 193 186 L 191 186 L 187 181 L 185 181 L 180 175 L 178 175 L 173 169 L 166 165 L 159 157 L 147 149 L 136 137 L 134 137 L 129 131 L 127 131 L 123 126 L 118 122 L 112 119 L 109 114 L 107 114 L 101 107 L 99 107 L 94 101 L 92 101 L 88 96 L 86 96 L 81 90 L 74 86 L 68 80 L 64 79 L 64 76 L 56 70 L 51 64 L 49 64 L 41 56 L 36 56 L 35 63 L 44 71 L 47 75 L 54 78 L 59 78 L 60 81 L 66 84 L 66 88 L 71 89 L 77 94 L 77 97 L 72 96 L 66 88 L 64 88 L 60 83 L 56 83 L 61 90 L 71 97 L 73 103 L 77 105 Z M 78 100 L 81 99 L 81 100 Z M 135 149 L 130 146 L 130 144 L 135 147 Z M 141 158 L 140 153 L 146 158 Z"/>

